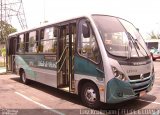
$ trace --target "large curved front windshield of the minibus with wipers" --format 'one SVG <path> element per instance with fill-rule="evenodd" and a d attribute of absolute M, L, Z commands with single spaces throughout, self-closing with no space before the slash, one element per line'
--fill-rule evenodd
<path fill-rule="evenodd" d="M 122 19 L 93 15 L 107 52 L 120 57 L 148 55 L 144 40 L 135 27 Z"/>

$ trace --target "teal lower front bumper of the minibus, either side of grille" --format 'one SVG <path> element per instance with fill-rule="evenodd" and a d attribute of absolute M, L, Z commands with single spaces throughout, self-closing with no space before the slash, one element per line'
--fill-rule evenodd
<path fill-rule="evenodd" d="M 145 92 L 149 92 L 152 89 L 154 75 L 151 78 L 151 82 L 149 83 L 148 88 L 145 90 Z M 113 78 L 107 84 L 106 96 L 107 103 L 120 103 L 139 97 L 140 93 L 136 94 L 129 82 L 124 82 Z"/>

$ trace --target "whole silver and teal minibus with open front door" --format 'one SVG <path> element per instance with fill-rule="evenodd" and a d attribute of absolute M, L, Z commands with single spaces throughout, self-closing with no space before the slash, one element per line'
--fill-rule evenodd
<path fill-rule="evenodd" d="M 92 14 L 10 34 L 7 70 L 80 95 L 97 108 L 120 103 L 152 89 L 154 66 L 132 23 Z"/>

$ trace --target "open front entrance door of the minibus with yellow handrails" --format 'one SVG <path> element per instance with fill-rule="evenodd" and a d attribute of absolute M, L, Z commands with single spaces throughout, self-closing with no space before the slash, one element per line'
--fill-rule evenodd
<path fill-rule="evenodd" d="M 67 24 L 59 27 L 57 86 L 68 92 L 74 91 L 75 37 L 75 24 Z"/>

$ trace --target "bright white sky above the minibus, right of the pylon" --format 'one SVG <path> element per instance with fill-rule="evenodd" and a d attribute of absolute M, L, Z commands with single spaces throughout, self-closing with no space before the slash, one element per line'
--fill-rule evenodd
<path fill-rule="evenodd" d="M 132 22 L 146 37 L 160 33 L 159 0 L 22 0 L 29 28 L 77 15 L 100 13 Z M 13 24 L 14 25 L 14 24 Z M 17 24 L 15 24 L 17 25 Z M 17 26 L 18 30 L 21 30 Z"/>

